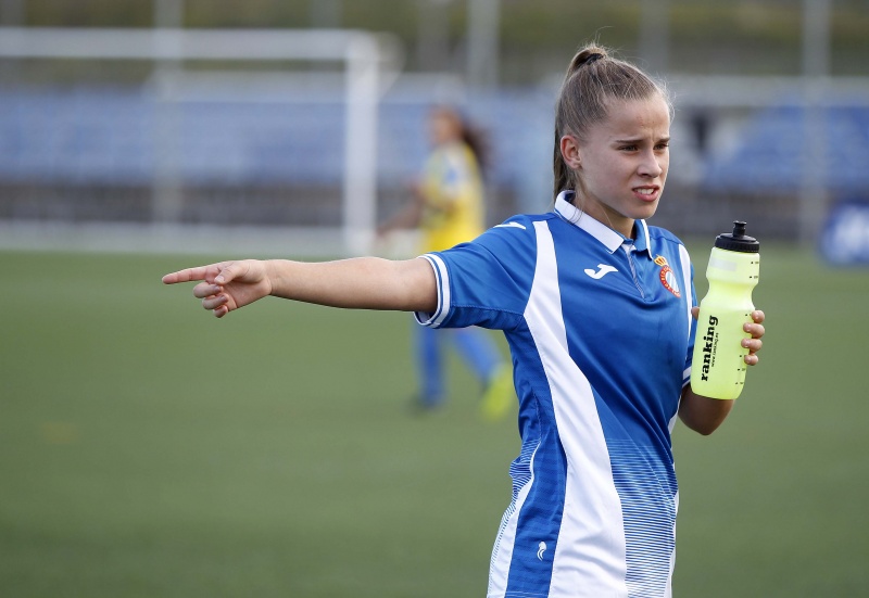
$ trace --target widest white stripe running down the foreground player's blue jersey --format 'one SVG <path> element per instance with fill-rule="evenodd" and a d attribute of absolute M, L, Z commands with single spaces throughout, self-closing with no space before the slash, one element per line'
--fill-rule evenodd
<path fill-rule="evenodd" d="M 589 381 L 568 353 L 552 232 L 545 220 L 536 221 L 534 229 L 537 267 L 525 319 L 540 352 L 568 459 L 550 597 L 627 596 L 625 524 L 609 453 Z"/>

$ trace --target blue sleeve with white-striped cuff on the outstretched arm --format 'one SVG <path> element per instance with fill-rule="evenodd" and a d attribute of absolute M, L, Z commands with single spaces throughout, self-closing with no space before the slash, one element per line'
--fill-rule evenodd
<path fill-rule="evenodd" d="M 537 259 L 529 218 L 512 218 L 469 243 L 423 257 L 434 270 L 438 308 L 416 313 L 420 325 L 509 330 L 522 319 Z"/>

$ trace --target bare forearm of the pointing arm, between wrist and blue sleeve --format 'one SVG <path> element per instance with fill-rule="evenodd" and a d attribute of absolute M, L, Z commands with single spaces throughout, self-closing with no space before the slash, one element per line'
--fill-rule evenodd
<path fill-rule="evenodd" d="M 424 259 L 393 262 L 357 257 L 338 262 L 266 263 L 272 295 L 358 309 L 433 311 L 438 295 L 434 273 Z"/>

